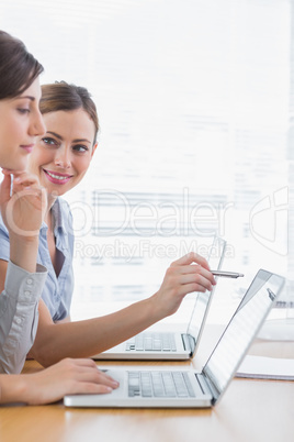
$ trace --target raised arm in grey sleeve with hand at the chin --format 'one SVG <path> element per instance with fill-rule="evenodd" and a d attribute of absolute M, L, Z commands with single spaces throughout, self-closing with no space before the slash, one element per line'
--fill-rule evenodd
<path fill-rule="evenodd" d="M 47 270 L 36 266 L 38 229 L 46 208 L 37 179 L 26 173 L 4 176 L 0 207 L 0 373 L 20 373 L 37 328 L 37 305 Z M 10 240 L 10 247 L 9 247 Z"/>

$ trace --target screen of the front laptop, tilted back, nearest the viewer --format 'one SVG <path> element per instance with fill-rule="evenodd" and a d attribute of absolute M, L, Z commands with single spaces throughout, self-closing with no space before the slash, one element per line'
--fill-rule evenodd
<path fill-rule="evenodd" d="M 203 368 L 219 398 L 279 296 L 284 278 L 260 269 Z"/>

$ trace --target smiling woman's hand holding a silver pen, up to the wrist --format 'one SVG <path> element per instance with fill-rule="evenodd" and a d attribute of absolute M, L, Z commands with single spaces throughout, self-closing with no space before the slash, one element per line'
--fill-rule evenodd
<path fill-rule="evenodd" d="M 162 318 L 173 314 L 185 295 L 211 291 L 215 284 L 207 261 L 191 252 L 174 261 L 167 269 L 160 289 L 154 295 L 155 308 Z"/>

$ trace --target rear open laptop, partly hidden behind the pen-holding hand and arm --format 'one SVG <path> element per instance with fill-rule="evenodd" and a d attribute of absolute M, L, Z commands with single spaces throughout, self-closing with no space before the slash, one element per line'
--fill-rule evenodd
<path fill-rule="evenodd" d="M 215 236 L 210 246 L 208 263 L 214 270 L 219 270 L 224 261 L 226 242 Z M 212 303 L 212 291 L 197 292 L 191 317 L 184 330 L 165 332 L 144 331 L 123 343 L 92 356 L 94 360 L 189 360 L 196 353 L 200 338 Z M 171 325 L 172 329 L 172 325 Z M 177 330 L 177 328 L 176 328 Z"/>

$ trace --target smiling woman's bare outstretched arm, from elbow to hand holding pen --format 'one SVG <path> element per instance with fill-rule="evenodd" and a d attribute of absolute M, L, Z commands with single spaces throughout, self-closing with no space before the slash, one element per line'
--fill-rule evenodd
<path fill-rule="evenodd" d="M 64 357 L 101 353 L 174 313 L 186 294 L 211 290 L 214 284 L 206 261 L 191 253 L 171 264 L 155 295 L 112 314 L 54 323 L 41 300 L 38 329 L 30 356 L 48 366 Z"/>

